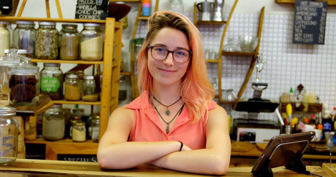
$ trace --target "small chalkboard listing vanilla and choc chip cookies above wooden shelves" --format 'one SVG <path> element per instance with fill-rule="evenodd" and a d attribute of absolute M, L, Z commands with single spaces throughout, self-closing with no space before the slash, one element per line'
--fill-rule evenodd
<path fill-rule="evenodd" d="M 107 17 L 109 0 L 77 0 L 77 19 L 104 20 Z"/>

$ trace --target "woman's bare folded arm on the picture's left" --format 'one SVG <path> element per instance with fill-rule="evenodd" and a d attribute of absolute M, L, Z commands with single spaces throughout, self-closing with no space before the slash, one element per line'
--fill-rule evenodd
<path fill-rule="evenodd" d="M 153 161 L 180 149 L 178 141 L 127 142 L 134 124 L 132 110 L 117 108 L 97 151 L 98 164 L 105 169 L 127 169 Z"/>

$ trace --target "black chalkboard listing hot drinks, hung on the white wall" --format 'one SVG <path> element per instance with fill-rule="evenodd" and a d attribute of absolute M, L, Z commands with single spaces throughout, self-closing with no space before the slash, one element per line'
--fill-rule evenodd
<path fill-rule="evenodd" d="M 295 1 L 293 43 L 324 44 L 327 1 Z"/>

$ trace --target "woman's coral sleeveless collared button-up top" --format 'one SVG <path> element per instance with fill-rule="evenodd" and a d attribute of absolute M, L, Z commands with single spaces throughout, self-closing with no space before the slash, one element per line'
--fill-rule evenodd
<path fill-rule="evenodd" d="M 211 101 L 208 110 L 215 109 L 216 102 Z M 165 127 L 149 102 L 147 91 L 132 101 L 126 108 L 134 114 L 134 126 L 128 141 L 182 141 L 193 150 L 205 149 L 205 122 L 190 123 L 188 108 L 185 107 L 167 134 Z"/>

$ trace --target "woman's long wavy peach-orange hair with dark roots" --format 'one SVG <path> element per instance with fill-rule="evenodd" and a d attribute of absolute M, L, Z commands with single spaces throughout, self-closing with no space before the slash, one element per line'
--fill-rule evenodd
<path fill-rule="evenodd" d="M 138 52 L 138 89 L 140 93 L 147 91 L 149 100 L 153 103 L 153 77 L 148 70 L 148 49 L 155 35 L 162 28 L 174 28 L 183 32 L 188 40 L 193 55 L 186 73 L 181 78 L 181 97 L 189 110 L 192 123 L 205 118 L 210 101 L 215 91 L 208 78 L 206 60 L 204 58 L 201 34 L 196 26 L 184 15 L 172 11 L 158 11 L 148 20 L 148 33 Z"/>

